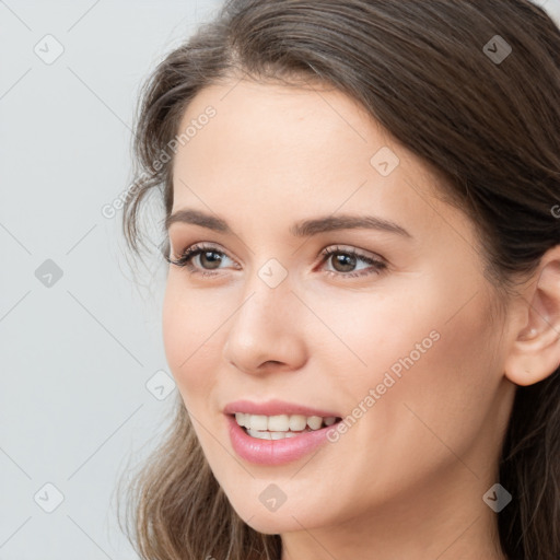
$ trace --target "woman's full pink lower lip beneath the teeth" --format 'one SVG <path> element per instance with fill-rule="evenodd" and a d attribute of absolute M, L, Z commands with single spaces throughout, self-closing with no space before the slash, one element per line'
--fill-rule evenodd
<path fill-rule="evenodd" d="M 245 433 L 234 417 L 228 416 L 228 421 L 235 453 L 259 465 L 284 465 L 304 457 L 327 441 L 327 431 L 332 428 L 326 427 L 283 440 L 259 440 Z"/>

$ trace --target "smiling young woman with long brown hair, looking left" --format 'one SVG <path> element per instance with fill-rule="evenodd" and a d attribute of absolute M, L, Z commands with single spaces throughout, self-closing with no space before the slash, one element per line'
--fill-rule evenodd
<path fill-rule="evenodd" d="M 526 0 L 233 0 L 160 63 L 141 558 L 560 558 L 559 92 Z"/>

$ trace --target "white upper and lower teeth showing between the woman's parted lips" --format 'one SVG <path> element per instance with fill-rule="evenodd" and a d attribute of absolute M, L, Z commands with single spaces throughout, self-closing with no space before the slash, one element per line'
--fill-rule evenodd
<path fill-rule="evenodd" d="M 231 415 L 237 425 L 249 436 L 257 440 L 284 440 L 296 438 L 334 425 L 340 417 L 303 416 L 303 415 L 250 415 L 235 412 Z"/>

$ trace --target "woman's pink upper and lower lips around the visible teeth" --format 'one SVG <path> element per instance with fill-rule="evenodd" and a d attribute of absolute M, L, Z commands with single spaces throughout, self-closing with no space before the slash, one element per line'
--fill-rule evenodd
<path fill-rule="evenodd" d="M 281 400 L 269 400 L 267 402 L 237 400 L 230 402 L 224 408 L 224 415 L 228 421 L 233 450 L 241 458 L 249 463 L 268 466 L 285 465 L 308 455 L 319 445 L 327 443 L 327 433 L 329 430 L 332 430 L 336 424 L 304 432 L 294 438 L 283 440 L 258 440 L 245 433 L 245 430 L 237 424 L 234 416 L 235 412 L 265 416 L 303 415 L 306 417 L 320 416 L 324 418 L 340 418 L 340 415 L 336 412 L 318 410 Z"/>

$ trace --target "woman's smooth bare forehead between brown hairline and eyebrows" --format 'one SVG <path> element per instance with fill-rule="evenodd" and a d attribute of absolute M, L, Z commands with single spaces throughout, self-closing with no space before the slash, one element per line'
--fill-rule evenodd
<path fill-rule="evenodd" d="M 314 88 L 242 80 L 202 90 L 178 127 L 194 133 L 175 155 L 174 210 L 270 224 L 368 211 L 433 228 L 430 170 L 355 101 Z"/>

